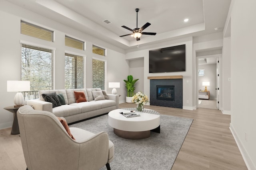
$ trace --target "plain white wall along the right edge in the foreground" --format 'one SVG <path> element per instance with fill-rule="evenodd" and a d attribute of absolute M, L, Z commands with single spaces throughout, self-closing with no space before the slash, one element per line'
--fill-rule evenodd
<path fill-rule="evenodd" d="M 232 129 L 236 142 L 242 151 L 248 169 L 255 170 L 256 1 L 235 0 L 233 2 L 234 5 L 231 12 L 230 129 Z"/>

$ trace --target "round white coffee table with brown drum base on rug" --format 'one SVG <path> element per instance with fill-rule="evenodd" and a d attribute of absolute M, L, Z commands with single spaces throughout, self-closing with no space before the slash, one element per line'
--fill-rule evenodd
<path fill-rule="evenodd" d="M 108 124 L 114 128 L 114 133 L 119 137 L 145 139 L 150 137 L 150 131 L 160 133 L 160 114 L 157 111 L 144 109 L 144 112 L 153 114 L 136 111 L 140 116 L 129 118 L 119 113 L 123 111 L 127 109 L 115 109 L 108 113 Z"/>

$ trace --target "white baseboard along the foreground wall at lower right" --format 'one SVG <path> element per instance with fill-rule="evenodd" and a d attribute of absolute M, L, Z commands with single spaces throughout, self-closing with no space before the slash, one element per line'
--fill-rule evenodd
<path fill-rule="evenodd" d="M 229 127 L 235 141 L 236 141 L 236 145 L 238 146 L 238 149 L 240 150 L 242 157 L 244 158 L 244 162 L 248 168 L 248 170 L 256 170 L 256 166 L 254 166 L 252 159 L 250 158 L 250 156 L 248 155 L 248 153 L 246 152 L 246 149 L 244 149 L 244 146 L 242 144 L 242 142 L 240 141 L 233 125 L 230 123 L 230 127 Z"/>

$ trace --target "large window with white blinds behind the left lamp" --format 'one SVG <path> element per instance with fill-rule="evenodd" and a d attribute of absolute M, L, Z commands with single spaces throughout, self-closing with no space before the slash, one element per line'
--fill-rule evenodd
<path fill-rule="evenodd" d="M 30 90 L 54 89 L 54 50 L 21 44 L 21 80 Z"/>

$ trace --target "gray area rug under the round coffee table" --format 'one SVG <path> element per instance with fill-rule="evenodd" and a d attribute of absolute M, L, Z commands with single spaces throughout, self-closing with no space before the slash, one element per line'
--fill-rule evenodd
<path fill-rule="evenodd" d="M 111 170 L 170 170 L 180 151 L 193 119 L 160 115 L 160 133 L 151 132 L 146 139 L 123 139 L 108 125 L 108 115 L 89 119 L 69 127 L 92 133 L 106 131 L 114 143 Z M 106 170 L 106 166 L 100 170 Z"/>

